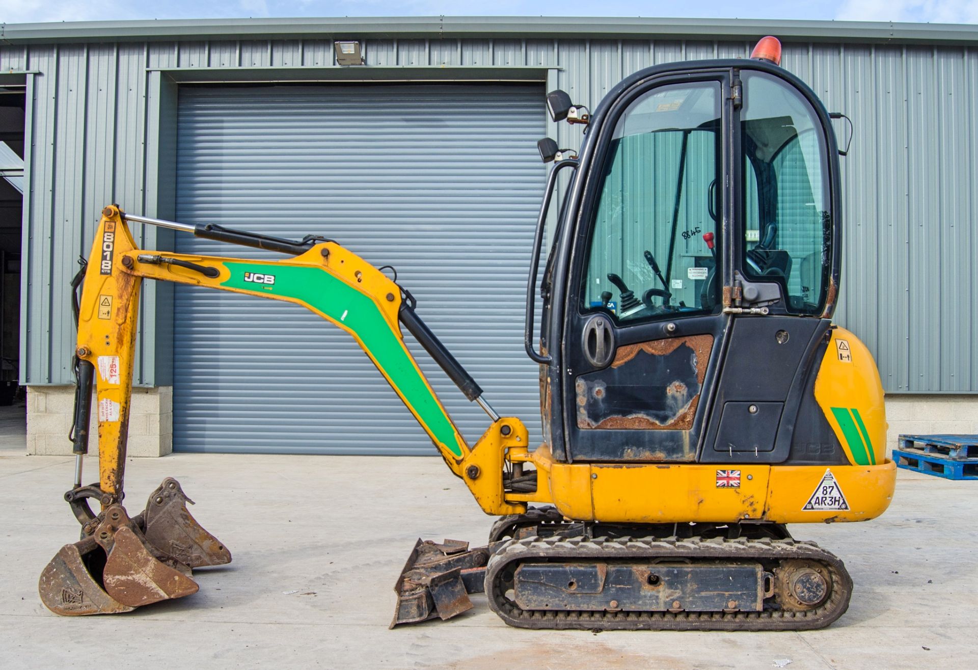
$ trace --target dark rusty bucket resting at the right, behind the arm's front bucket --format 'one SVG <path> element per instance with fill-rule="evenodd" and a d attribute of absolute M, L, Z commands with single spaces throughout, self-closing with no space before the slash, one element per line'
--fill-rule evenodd
<path fill-rule="evenodd" d="M 134 520 L 156 549 L 191 567 L 230 563 L 231 552 L 204 530 L 190 514 L 187 503 L 193 505 L 194 501 L 176 479 L 166 477 L 150 494 L 142 518 L 137 516 Z"/>

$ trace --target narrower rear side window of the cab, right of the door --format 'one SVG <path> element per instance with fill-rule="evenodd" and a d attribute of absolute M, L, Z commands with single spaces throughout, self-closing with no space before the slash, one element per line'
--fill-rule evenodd
<path fill-rule="evenodd" d="M 831 258 L 822 124 L 777 77 L 742 72 L 744 274 L 781 285 L 789 312 L 820 314 Z"/>

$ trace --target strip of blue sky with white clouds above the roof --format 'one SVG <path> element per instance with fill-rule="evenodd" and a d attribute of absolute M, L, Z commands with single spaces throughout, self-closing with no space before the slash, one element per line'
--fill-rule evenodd
<path fill-rule="evenodd" d="M 978 0 L 0 0 L 0 22 L 266 17 L 594 16 L 978 23 Z"/>

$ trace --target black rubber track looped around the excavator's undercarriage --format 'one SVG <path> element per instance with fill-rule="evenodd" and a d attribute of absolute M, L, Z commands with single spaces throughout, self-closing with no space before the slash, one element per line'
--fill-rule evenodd
<path fill-rule="evenodd" d="M 795 612 L 766 609 L 759 612 L 608 612 L 523 610 L 506 596 L 502 575 L 513 563 L 544 560 L 621 559 L 814 559 L 831 574 L 829 599 L 819 607 Z M 511 626 L 574 630 L 715 630 L 800 631 L 828 626 L 845 613 L 852 596 L 852 578 L 842 561 L 814 542 L 768 538 L 726 540 L 714 538 L 616 538 L 588 539 L 531 537 L 511 540 L 489 559 L 486 574 L 489 606 Z"/>

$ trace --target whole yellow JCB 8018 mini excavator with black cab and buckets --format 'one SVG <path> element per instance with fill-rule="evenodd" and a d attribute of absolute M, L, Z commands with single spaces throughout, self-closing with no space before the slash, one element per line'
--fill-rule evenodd
<path fill-rule="evenodd" d="M 319 237 L 273 238 L 103 211 L 77 303 L 74 487 L 82 524 L 44 570 L 60 614 L 131 610 L 198 589 L 191 569 L 231 555 L 165 479 L 122 507 L 140 284 L 177 282 L 286 300 L 352 335 L 486 514 L 487 546 L 419 540 L 392 626 L 449 618 L 484 592 L 527 628 L 797 630 L 848 606 L 842 561 L 785 524 L 863 521 L 894 490 L 883 391 L 867 347 L 830 319 L 839 290 L 838 147 L 816 95 L 753 58 L 649 67 L 556 159 L 529 267 L 526 350 L 540 365 L 543 443 L 500 417 L 424 325 L 411 293 Z M 835 115 L 838 116 L 838 115 Z M 538 259 L 558 175 L 535 341 Z M 288 254 L 245 260 L 137 248 L 129 224 Z M 469 445 L 405 346 L 423 345 L 490 424 Z M 92 384 L 99 481 L 82 485 Z M 96 514 L 88 506 L 101 505 Z M 537 504 L 538 507 L 530 507 Z"/>

